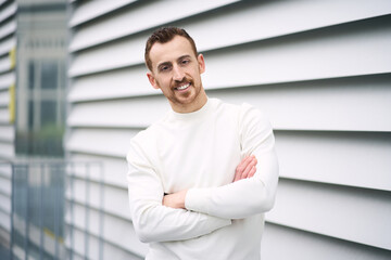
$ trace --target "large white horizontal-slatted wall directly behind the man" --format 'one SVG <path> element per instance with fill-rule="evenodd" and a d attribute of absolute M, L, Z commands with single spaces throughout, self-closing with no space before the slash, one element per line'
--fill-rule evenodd
<path fill-rule="evenodd" d="M 275 128 L 280 183 L 266 214 L 263 259 L 391 257 L 390 1 L 72 6 L 66 150 L 71 159 L 104 166 L 103 177 L 76 174 L 68 191 L 74 239 L 100 239 L 93 223 L 103 212 L 104 259 L 147 251 L 131 225 L 125 156 L 130 138 L 169 108 L 148 82 L 143 48 L 155 28 L 175 25 L 205 56 L 209 96 L 253 104 Z M 92 199 L 101 182 L 102 205 Z M 76 251 L 86 253 L 81 244 Z"/>

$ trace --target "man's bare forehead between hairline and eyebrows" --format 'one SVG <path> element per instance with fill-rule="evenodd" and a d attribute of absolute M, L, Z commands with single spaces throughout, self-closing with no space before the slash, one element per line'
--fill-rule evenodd
<path fill-rule="evenodd" d="M 194 52 L 190 41 L 181 36 L 175 36 L 171 41 L 165 43 L 156 42 L 150 51 L 150 58 L 153 66 L 163 62 L 174 61 L 184 55 L 194 56 Z"/>

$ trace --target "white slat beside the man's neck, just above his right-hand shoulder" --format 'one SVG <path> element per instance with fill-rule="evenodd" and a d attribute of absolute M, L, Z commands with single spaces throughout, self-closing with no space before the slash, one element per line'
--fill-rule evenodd
<path fill-rule="evenodd" d="M 211 91 L 211 98 L 264 110 L 281 130 L 391 130 L 391 78 L 386 76 L 290 82 Z"/>

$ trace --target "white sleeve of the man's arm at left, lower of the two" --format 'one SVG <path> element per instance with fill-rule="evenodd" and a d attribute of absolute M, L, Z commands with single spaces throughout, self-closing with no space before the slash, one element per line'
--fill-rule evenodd
<path fill-rule="evenodd" d="M 143 144 L 149 142 L 142 141 Z M 141 242 L 184 240 L 231 224 L 228 219 L 163 206 L 164 191 L 153 168 L 153 148 L 146 152 L 136 141 L 130 146 L 127 155 L 129 204 L 136 234 Z"/>

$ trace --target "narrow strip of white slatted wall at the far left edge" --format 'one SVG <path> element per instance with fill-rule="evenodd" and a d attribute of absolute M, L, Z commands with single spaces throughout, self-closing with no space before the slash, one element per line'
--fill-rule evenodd
<path fill-rule="evenodd" d="M 0 1 L 0 243 L 10 243 L 11 168 L 1 161 L 15 156 L 14 93 L 16 48 L 16 10 L 14 0 Z"/>

